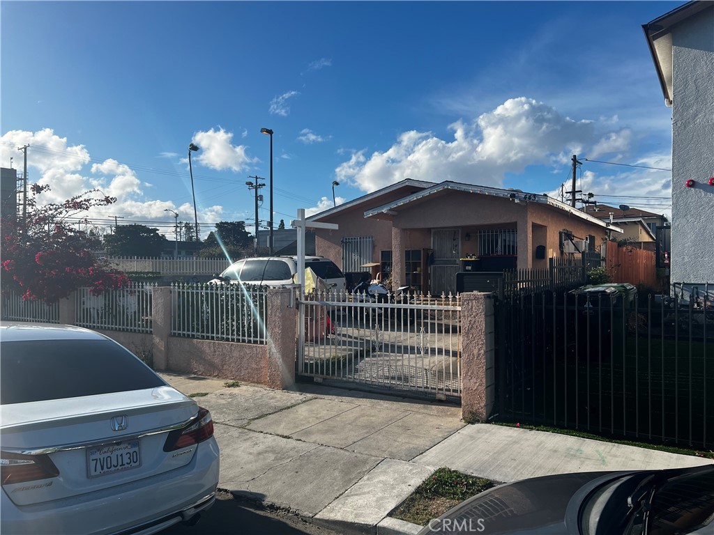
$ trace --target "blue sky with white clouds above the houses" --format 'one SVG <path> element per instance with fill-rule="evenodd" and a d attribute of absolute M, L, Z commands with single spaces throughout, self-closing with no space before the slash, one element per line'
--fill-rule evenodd
<path fill-rule="evenodd" d="M 670 213 L 665 107 L 641 25 L 683 2 L 3 1 L 1 152 L 93 225 L 173 237 L 276 225 L 404 178 L 559 195 L 577 153 L 600 203 Z M 580 183 L 578 183 L 580 187 Z M 568 185 L 569 187 L 569 185 Z M 259 218 L 269 219 L 268 188 Z"/>

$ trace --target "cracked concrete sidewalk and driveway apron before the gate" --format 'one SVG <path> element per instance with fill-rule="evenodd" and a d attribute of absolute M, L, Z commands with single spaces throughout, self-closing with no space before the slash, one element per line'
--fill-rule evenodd
<path fill-rule="evenodd" d="M 568 472 L 689 467 L 710 459 L 562 434 L 466 425 L 441 402 L 298 384 L 273 390 L 161 374 L 211 411 L 218 486 L 343 533 L 416 534 L 387 515 L 435 469 L 497 481 Z"/>

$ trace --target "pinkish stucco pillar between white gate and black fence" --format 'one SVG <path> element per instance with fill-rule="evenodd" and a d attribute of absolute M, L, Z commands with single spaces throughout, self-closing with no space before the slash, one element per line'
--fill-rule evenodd
<path fill-rule="evenodd" d="M 493 296 L 461 294 L 461 417 L 486 422 L 496 402 Z"/>

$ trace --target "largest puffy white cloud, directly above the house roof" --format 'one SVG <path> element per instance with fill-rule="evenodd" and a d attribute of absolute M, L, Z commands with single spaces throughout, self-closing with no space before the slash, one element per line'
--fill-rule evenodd
<path fill-rule="evenodd" d="M 371 156 L 354 151 L 335 173 L 366 192 L 405 178 L 498 187 L 506 173 L 522 173 L 528 165 L 560 166 L 585 149 L 608 153 L 627 147 L 629 131 L 603 133 L 600 128 L 533 99 L 511 98 L 471 123 L 451 124 L 448 141 L 431 132 L 404 132 L 386 151 Z"/>

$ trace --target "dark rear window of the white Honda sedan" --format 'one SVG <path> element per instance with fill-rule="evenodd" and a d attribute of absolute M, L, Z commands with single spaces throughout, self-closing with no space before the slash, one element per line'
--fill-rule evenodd
<path fill-rule="evenodd" d="M 111 340 L 2 342 L 0 404 L 127 392 L 165 383 Z"/>

